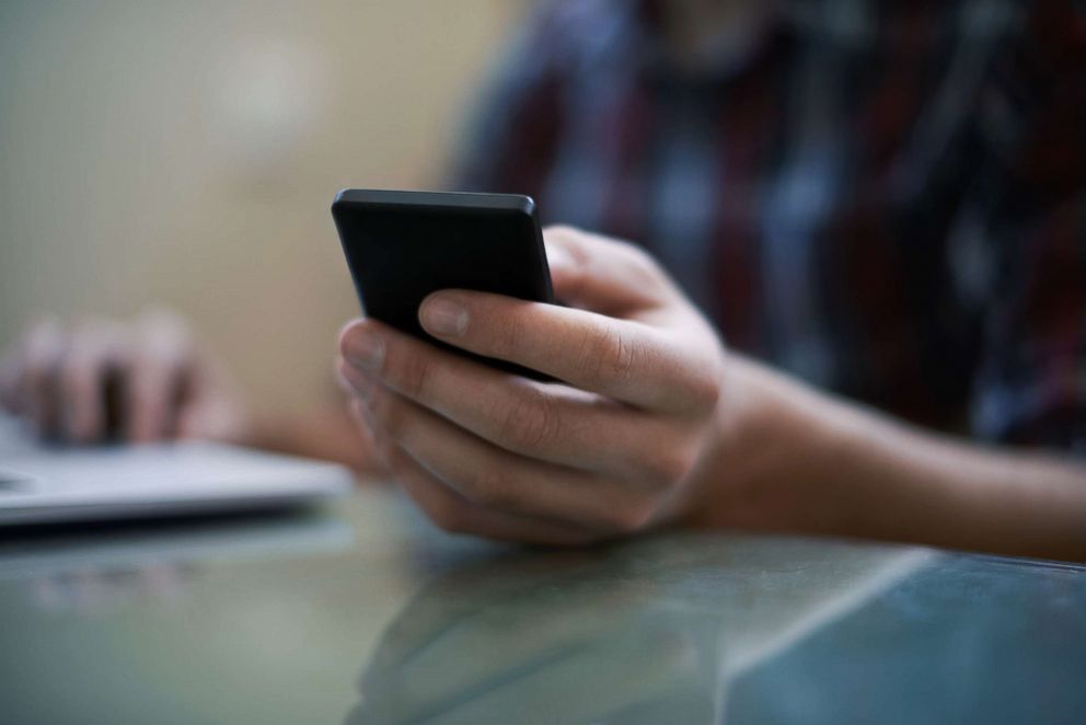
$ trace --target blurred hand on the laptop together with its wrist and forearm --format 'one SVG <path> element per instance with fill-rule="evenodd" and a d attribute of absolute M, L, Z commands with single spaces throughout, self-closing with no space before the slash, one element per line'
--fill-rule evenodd
<path fill-rule="evenodd" d="M 201 438 L 376 471 L 342 396 L 286 418 L 256 416 L 188 321 L 164 309 L 126 321 L 32 322 L 0 355 L 0 410 L 70 445 Z"/>

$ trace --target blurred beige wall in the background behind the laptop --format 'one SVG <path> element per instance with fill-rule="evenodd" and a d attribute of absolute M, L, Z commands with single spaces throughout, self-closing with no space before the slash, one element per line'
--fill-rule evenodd
<path fill-rule="evenodd" d="M 432 187 L 511 0 L 0 2 L 0 343 L 190 315 L 267 408 L 356 311 L 328 205 Z"/>

